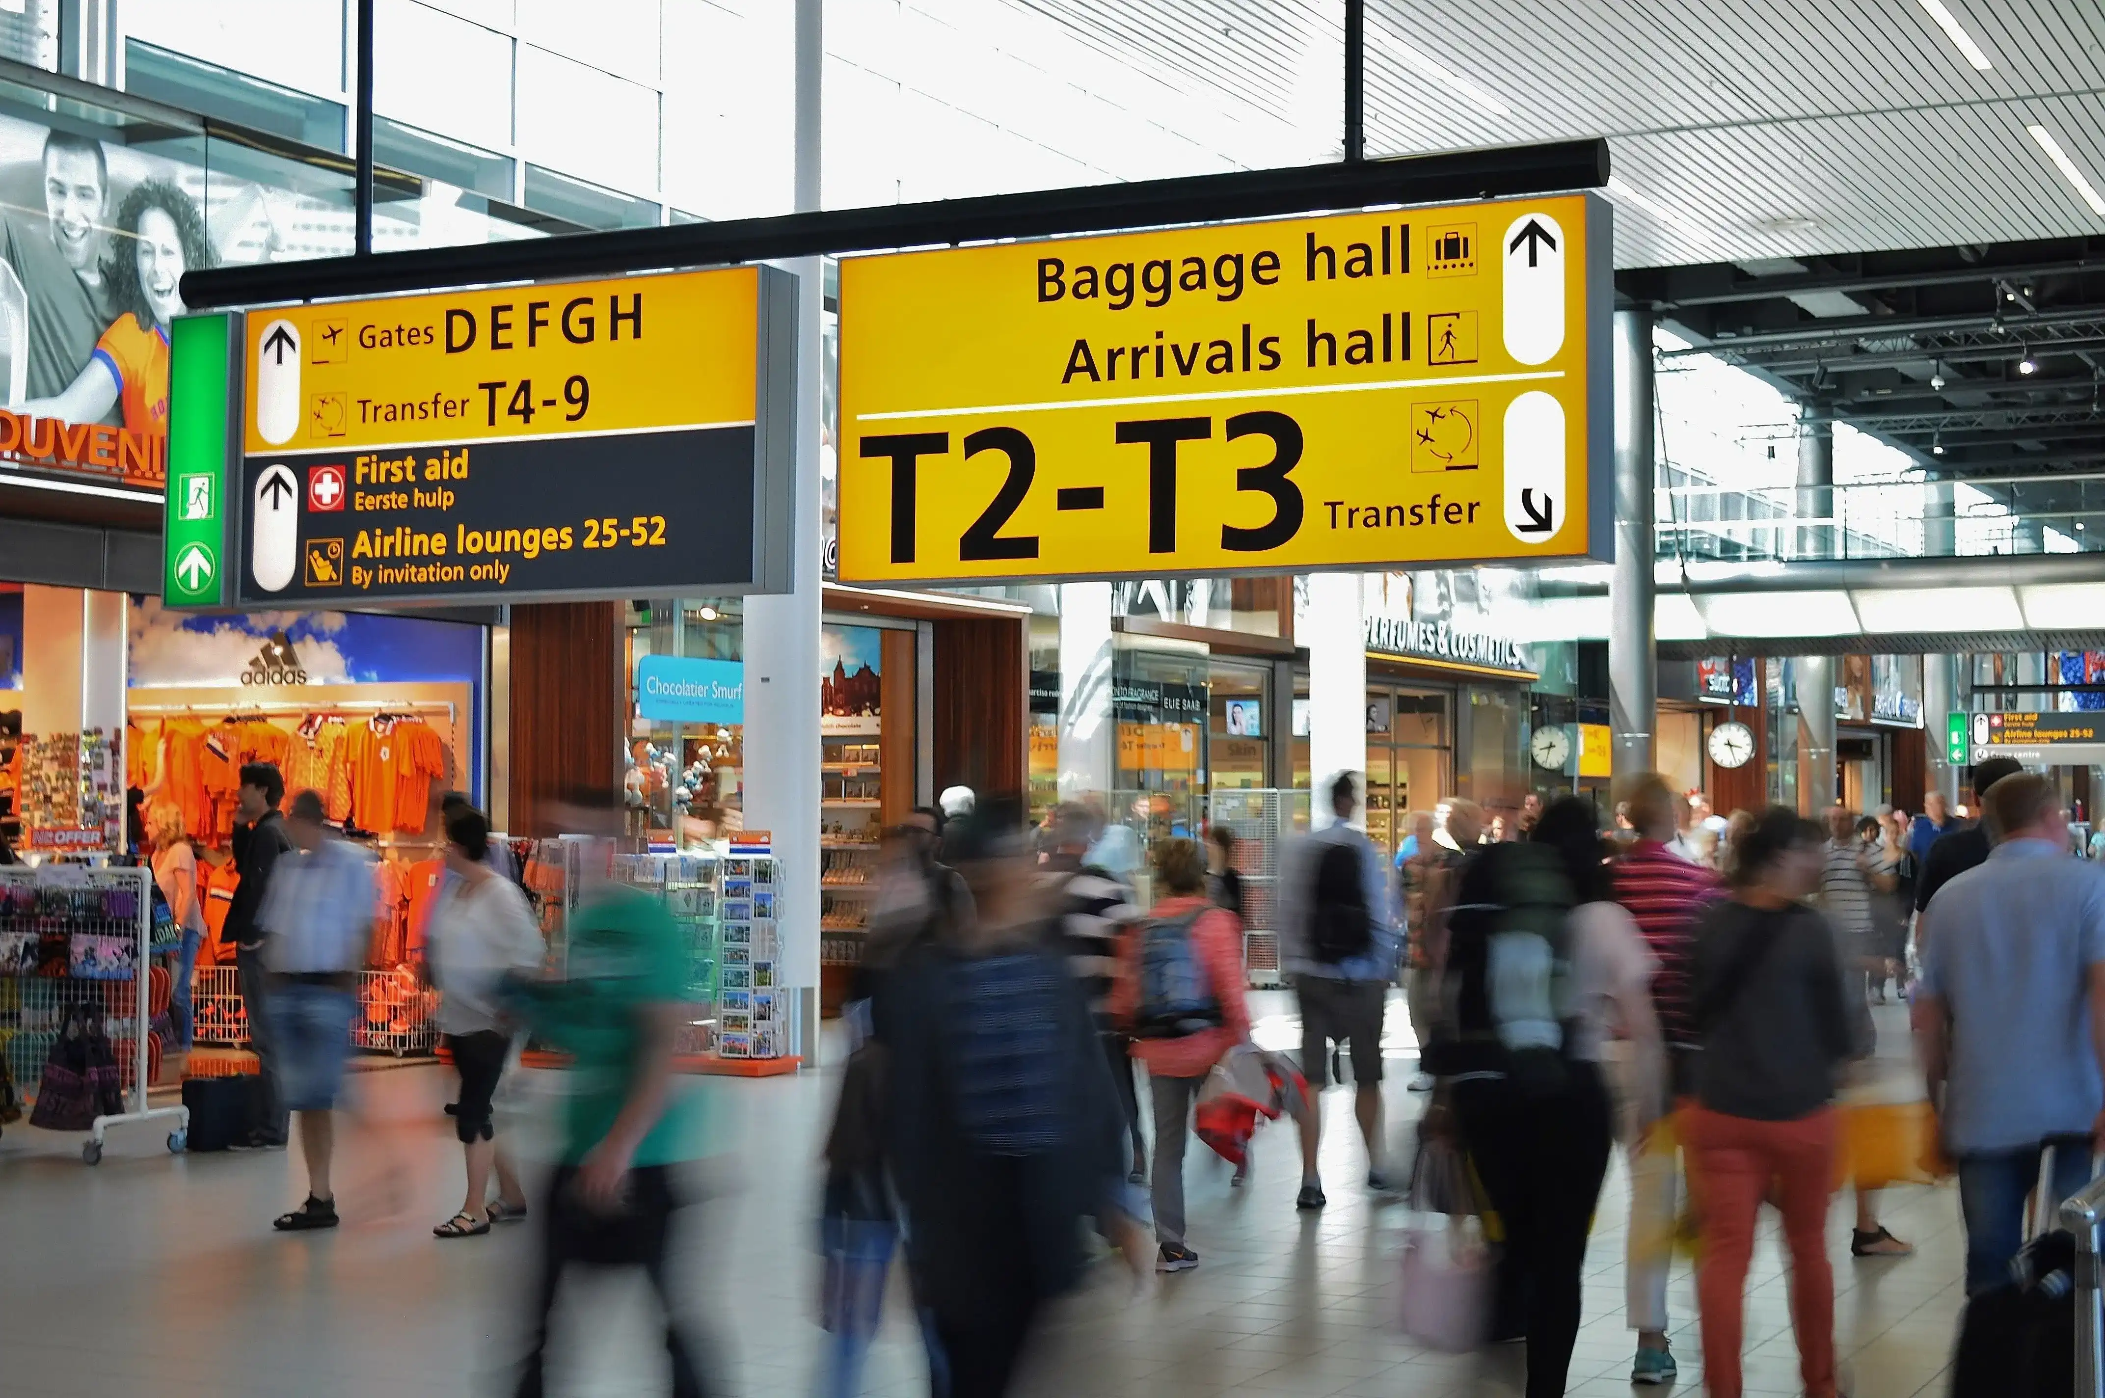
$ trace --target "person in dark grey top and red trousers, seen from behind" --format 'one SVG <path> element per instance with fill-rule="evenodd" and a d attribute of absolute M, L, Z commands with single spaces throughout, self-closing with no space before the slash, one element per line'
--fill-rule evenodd
<path fill-rule="evenodd" d="M 1703 1055 L 1684 1135 L 1703 1200 L 1697 1307 L 1711 1398 L 1741 1396 L 1747 1263 L 1770 1192 L 1791 1259 L 1798 1371 L 1808 1398 L 1836 1394 L 1829 1103 L 1855 1034 L 1833 928 L 1806 905 L 1823 861 L 1821 827 L 1770 806 L 1735 846 L 1732 897 L 1697 924 L 1692 1019 Z"/>

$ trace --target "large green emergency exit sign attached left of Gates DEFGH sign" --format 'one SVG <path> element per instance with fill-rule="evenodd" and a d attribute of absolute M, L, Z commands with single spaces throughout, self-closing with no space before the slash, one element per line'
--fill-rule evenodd
<path fill-rule="evenodd" d="M 221 606 L 227 590 L 227 373 L 234 316 L 179 316 L 168 326 L 168 501 L 160 600 Z"/>

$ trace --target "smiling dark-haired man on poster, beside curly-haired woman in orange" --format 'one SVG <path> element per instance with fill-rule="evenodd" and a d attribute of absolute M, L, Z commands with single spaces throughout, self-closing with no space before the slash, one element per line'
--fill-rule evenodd
<path fill-rule="evenodd" d="M 51 398 L 65 390 L 93 358 L 95 341 L 116 312 L 103 284 L 103 227 L 109 213 L 109 166 L 99 141 L 53 131 L 44 137 L 44 223 L 8 215 L 0 219 L 0 259 L 21 282 L 27 303 L 27 345 L 6 345 L 11 358 L 27 356 L 25 394 Z M 116 404 L 101 421 L 116 423 Z"/>

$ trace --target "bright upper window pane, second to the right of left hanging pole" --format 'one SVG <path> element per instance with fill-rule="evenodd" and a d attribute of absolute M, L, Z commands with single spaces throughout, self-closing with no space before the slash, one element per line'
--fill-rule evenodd
<path fill-rule="evenodd" d="M 518 46 L 518 91 L 533 95 L 518 109 L 520 156 L 615 189 L 659 187 L 657 93 L 533 44 Z"/>

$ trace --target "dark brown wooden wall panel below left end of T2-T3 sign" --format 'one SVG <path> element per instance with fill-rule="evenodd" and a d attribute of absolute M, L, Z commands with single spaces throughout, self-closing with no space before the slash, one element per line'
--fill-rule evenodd
<path fill-rule="evenodd" d="M 968 785 L 979 798 L 1025 794 L 1025 619 L 935 623 L 935 790 Z"/>

